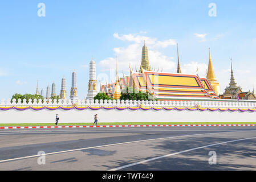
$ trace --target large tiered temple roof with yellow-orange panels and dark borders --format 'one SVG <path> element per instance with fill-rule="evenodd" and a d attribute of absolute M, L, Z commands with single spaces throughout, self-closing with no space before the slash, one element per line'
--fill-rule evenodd
<path fill-rule="evenodd" d="M 153 72 L 141 68 L 141 73 L 132 71 L 131 76 L 135 88 L 148 90 L 160 100 L 218 98 L 207 78 L 202 78 L 201 81 L 197 75 Z"/>

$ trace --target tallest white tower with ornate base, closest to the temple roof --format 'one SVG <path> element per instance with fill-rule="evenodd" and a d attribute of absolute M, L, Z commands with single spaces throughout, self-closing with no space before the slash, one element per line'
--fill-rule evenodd
<path fill-rule="evenodd" d="M 97 94 L 97 80 L 96 80 L 96 64 L 94 62 L 94 57 L 90 62 L 90 76 L 88 83 L 88 93 L 86 99 L 92 100 Z"/>

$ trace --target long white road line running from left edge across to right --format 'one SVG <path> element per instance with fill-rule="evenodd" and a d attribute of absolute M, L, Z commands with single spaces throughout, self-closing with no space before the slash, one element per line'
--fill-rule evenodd
<path fill-rule="evenodd" d="M 255 131 L 255 130 L 249 130 L 249 131 Z M 193 137 L 193 136 L 198 136 L 198 135 L 209 135 L 209 134 L 220 134 L 220 133 L 234 133 L 234 132 L 244 132 L 244 131 L 225 131 L 225 132 L 218 132 L 218 133 L 204 133 L 204 134 L 181 135 L 181 136 L 174 136 L 174 137 L 164 137 L 164 138 L 153 138 L 153 139 L 145 139 L 145 140 L 136 140 L 136 141 L 132 141 L 132 142 L 113 143 L 113 144 L 106 144 L 106 145 L 103 145 L 103 146 L 76 148 L 76 149 L 73 149 L 73 150 L 66 150 L 66 151 L 59 151 L 59 152 L 50 152 L 50 153 L 47 153 L 45 155 L 62 154 L 62 153 L 66 153 L 66 152 L 74 152 L 74 151 L 79 151 L 79 150 L 86 150 L 86 149 L 90 149 L 90 148 L 117 146 L 117 145 L 120 145 L 120 144 L 129 144 L 129 143 L 137 143 L 137 142 L 148 142 L 148 141 L 152 141 L 152 140 L 161 140 L 161 139 L 169 139 L 169 138 L 181 138 L 181 137 Z M 10 162 L 10 161 L 13 161 L 13 160 L 35 158 L 35 157 L 38 157 L 38 156 L 41 156 L 41 155 L 30 155 L 30 156 L 25 156 L 25 157 L 21 157 L 21 158 L 13 158 L 13 159 L 0 160 L 0 163 Z"/>

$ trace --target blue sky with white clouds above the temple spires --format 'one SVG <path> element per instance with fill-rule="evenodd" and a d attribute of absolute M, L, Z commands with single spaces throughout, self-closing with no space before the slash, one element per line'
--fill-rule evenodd
<path fill-rule="evenodd" d="M 38 3 L 46 5 L 39 17 Z M 216 3 L 217 16 L 209 16 Z M 230 57 L 235 81 L 244 91 L 256 85 L 255 1 L 1 1 L 0 98 L 15 93 L 46 93 L 55 81 L 60 92 L 66 77 L 77 73 L 78 96 L 87 95 L 89 63 L 110 81 L 119 60 L 119 74 L 128 64 L 139 68 L 143 40 L 152 67 L 174 72 L 178 43 L 182 72 L 205 76 L 208 47 L 223 92 L 230 79 Z"/>

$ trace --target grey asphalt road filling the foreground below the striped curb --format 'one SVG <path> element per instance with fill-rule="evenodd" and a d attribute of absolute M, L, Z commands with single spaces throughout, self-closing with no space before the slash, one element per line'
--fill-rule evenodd
<path fill-rule="evenodd" d="M 255 143 L 245 126 L 0 130 L 0 170 L 255 170 Z"/>

